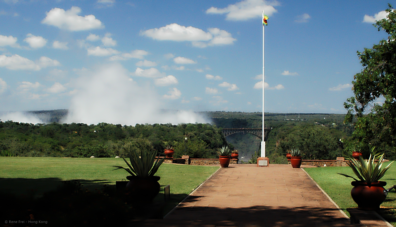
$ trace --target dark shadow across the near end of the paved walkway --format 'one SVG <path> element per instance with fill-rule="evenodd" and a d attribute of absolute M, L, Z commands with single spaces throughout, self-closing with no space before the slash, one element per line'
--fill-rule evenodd
<path fill-rule="evenodd" d="M 189 197 L 197 201 L 199 197 Z M 202 198 L 204 199 L 204 198 Z M 274 207 L 249 206 L 221 208 L 194 206 L 176 208 L 164 219 L 146 220 L 140 226 L 348 226 L 350 220 L 343 218 L 339 210 L 320 207 Z"/>

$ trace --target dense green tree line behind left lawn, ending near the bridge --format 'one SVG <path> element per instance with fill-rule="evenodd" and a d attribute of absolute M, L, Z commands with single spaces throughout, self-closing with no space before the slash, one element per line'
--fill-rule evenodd
<path fill-rule="evenodd" d="M 148 140 L 158 153 L 163 153 L 167 145 L 173 146 L 176 158 L 215 158 L 217 148 L 228 145 L 221 129 L 210 124 L 33 125 L 0 121 L 0 151 L 15 156 L 115 157 L 125 155 L 141 140 Z"/>

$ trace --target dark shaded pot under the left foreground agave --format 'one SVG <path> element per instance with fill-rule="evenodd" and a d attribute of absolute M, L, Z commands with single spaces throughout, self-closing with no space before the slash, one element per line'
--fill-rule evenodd
<path fill-rule="evenodd" d="M 138 176 L 127 176 L 129 182 L 126 185 L 131 202 L 152 202 L 154 197 L 160 192 L 159 176 L 141 178 Z"/>

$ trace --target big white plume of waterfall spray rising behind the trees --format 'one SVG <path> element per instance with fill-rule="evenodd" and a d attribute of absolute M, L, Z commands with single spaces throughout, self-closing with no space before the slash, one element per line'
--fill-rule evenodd
<path fill-rule="evenodd" d="M 120 64 L 102 66 L 77 82 L 65 123 L 100 122 L 135 125 L 142 123 L 208 122 L 188 111 L 161 112 L 163 101 L 150 87 L 139 87 Z"/>

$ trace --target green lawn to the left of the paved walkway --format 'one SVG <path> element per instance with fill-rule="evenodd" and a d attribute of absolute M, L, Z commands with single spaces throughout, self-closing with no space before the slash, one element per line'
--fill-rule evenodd
<path fill-rule="evenodd" d="M 0 192 L 40 196 L 65 180 L 79 180 L 90 190 L 101 189 L 128 176 L 125 170 L 112 171 L 113 165 L 127 167 L 124 160 L 115 158 L 0 157 Z M 162 190 L 154 202 L 164 202 L 163 190 L 169 184 L 166 214 L 218 168 L 163 163 L 155 174 L 161 177 Z"/>

